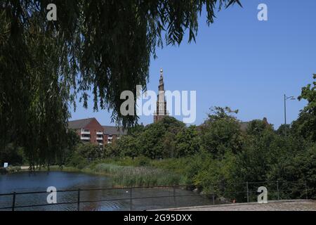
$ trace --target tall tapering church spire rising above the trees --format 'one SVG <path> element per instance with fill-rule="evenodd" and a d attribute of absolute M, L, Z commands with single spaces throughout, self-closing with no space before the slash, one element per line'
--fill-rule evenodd
<path fill-rule="evenodd" d="M 160 70 L 160 79 L 158 86 L 158 96 L 157 96 L 157 110 L 154 113 L 154 122 L 162 120 L 166 115 L 168 115 L 166 110 L 166 98 L 164 96 L 164 75 L 163 70 Z"/>

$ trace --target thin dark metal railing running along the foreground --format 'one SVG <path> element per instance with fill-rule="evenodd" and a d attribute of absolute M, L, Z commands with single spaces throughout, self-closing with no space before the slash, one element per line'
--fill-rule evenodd
<path fill-rule="evenodd" d="M 290 188 L 290 189 L 284 189 L 284 184 L 294 184 L 296 188 Z M 309 192 L 314 191 L 314 188 L 308 188 L 306 182 L 289 182 L 289 181 L 262 181 L 262 182 L 237 182 L 237 183 L 216 183 L 216 184 L 210 184 L 209 187 L 211 191 L 208 193 L 202 193 L 202 186 L 197 185 L 173 185 L 173 186 L 136 186 L 136 187 L 128 187 L 128 188 L 89 188 L 89 189 L 71 189 L 71 190 L 57 190 L 55 193 L 77 193 L 77 200 L 76 201 L 69 201 L 69 202 L 61 202 L 61 203 L 51 203 L 51 204 L 37 204 L 37 205 L 16 205 L 17 197 L 19 195 L 33 195 L 33 194 L 39 194 L 39 193 L 46 193 L 49 194 L 47 191 L 33 191 L 33 192 L 13 192 L 13 193 L 0 193 L 1 196 L 12 196 L 12 205 L 7 207 L 0 207 L 0 210 L 12 210 L 15 211 L 15 209 L 18 208 L 27 208 L 27 207 L 44 207 L 44 206 L 51 206 L 51 205 L 77 205 L 77 210 L 80 211 L 81 204 L 84 203 L 102 203 L 102 202 L 114 202 L 114 201 L 123 201 L 127 200 L 129 201 L 129 210 L 133 210 L 133 200 L 145 200 L 145 199 L 154 199 L 154 198 L 173 198 L 174 205 L 176 207 L 176 198 L 181 197 L 196 197 L 197 193 L 200 192 L 200 195 L 204 195 L 211 202 L 213 205 L 221 203 L 234 203 L 235 198 L 238 198 L 238 196 L 245 195 L 244 198 L 246 198 L 246 203 L 250 203 L 251 200 L 254 200 L 254 196 L 257 196 L 258 193 L 254 188 L 258 188 L 259 186 L 269 186 L 268 193 L 271 196 L 275 197 L 275 200 L 282 200 L 281 194 L 290 192 L 294 195 L 297 195 L 302 199 L 304 196 L 307 200 L 309 198 Z M 239 190 L 237 191 L 233 188 L 234 186 L 237 186 Z M 303 188 L 301 188 L 303 186 Z M 273 189 L 275 187 L 275 189 Z M 281 187 L 281 188 L 280 188 Z M 298 188 L 297 188 L 298 187 Z M 138 188 L 142 189 L 150 189 L 150 188 L 169 188 L 172 190 L 172 195 L 159 195 L 159 196 L 133 196 L 133 191 L 135 191 Z M 192 191 L 192 194 L 185 194 L 185 195 L 177 195 L 176 190 L 177 188 L 181 190 L 187 190 Z M 200 188 L 200 190 L 199 190 Z M 242 190 L 240 190 L 242 189 Z M 110 199 L 100 199 L 100 200 L 81 200 L 81 193 L 84 193 L 86 191 L 126 191 L 126 193 L 129 193 L 129 198 L 110 198 Z M 235 191 L 233 191 L 235 190 Z M 51 191 L 52 193 L 53 191 Z M 254 193 L 257 193 L 254 195 Z M 229 200 L 225 198 L 224 200 L 218 200 L 220 196 L 226 196 L 229 197 Z M 269 198 L 271 199 L 271 198 Z M 239 201 L 240 203 L 240 201 Z"/>

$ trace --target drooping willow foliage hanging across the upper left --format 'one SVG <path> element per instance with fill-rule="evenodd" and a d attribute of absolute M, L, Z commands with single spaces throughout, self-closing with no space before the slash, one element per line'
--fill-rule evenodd
<path fill-rule="evenodd" d="M 48 4 L 57 21 L 48 21 Z M 30 162 L 49 165 L 67 141 L 68 106 L 79 97 L 112 111 L 124 127 L 121 91 L 146 86 L 157 47 L 195 40 L 198 16 L 207 22 L 238 0 L 0 0 L 0 131 L 24 146 Z"/>

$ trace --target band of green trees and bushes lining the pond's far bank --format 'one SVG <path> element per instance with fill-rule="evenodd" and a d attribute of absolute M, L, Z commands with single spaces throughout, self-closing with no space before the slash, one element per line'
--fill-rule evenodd
<path fill-rule="evenodd" d="M 316 75 L 314 75 L 316 79 Z M 282 198 L 315 198 L 316 186 L 316 91 L 315 82 L 303 87 L 299 100 L 307 101 L 298 119 L 275 130 L 264 120 L 253 120 L 242 129 L 237 110 L 211 108 L 200 126 L 186 127 L 173 117 L 129 129 L 113 144 L 100 148 L 80 143 L 77 134 L 67 132 L 62 165 L 84 169 L 98 163 L 133 167 L 155 167 L 180 174 L 185 184 L 201 186 L 206 193 L 244 191 L 237 182 L 279 181 Z M 285 129 L 287 129 L 285 131 Z M 1 162 L 26 163 L 23 148 L 10 143 L 1 153 Z M 55 162 L 58 162 L 57 160 Z M 287 182 L 298 182 L 290 185 Z M 307 187 L 305 187 L 307 184 Z M 276 188 L 270 186 L 270 188 Z M 214 190 L 215 189 L 215 190 Z M 224 195 L 222 193 L 222 195 Z M 225 195 L 228 196 L 228 195 Z M 231 198 L 242 200 L 243 195 Z"/>

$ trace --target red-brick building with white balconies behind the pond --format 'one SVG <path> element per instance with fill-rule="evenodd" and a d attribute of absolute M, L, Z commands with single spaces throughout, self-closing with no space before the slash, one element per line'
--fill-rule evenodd
<path fill-rule="evenodd" d="M 68 129 L 74 129 L 81 141 L 98 143 L 100 146 L 112 143 L 127 133 L 114 126 L 102 126 L 96 118 L 72 120 L 68 122 Z"/>

